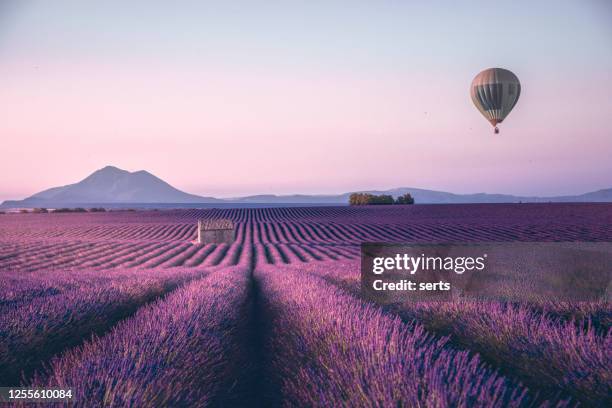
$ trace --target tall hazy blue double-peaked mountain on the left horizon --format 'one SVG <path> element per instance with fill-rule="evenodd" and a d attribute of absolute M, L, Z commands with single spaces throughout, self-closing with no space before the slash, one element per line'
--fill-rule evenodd
<path fill-rule="evenodd" d="M 185 193 L 144 170 L 129 172 L 106 166 L 78 183 L 50 188 L 25 200 L 6 201 L 2 206 L 58 207 L 62 204 L 215 202 L 222 201 Z"/>

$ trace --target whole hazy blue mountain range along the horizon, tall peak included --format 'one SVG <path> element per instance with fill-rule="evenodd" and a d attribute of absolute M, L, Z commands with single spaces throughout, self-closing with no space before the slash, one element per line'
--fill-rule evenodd
<path fill-rule="evenodd" d="M 467 203 L 518 203 L 518 202 L 612 202 L 612 188 L 586 194 L 559 197 L 521 197 L 507 194 L 453 194 L 444 191 L 419 188 L 395 188 L 391 190 L 363 190 L 371 194 L 389 194 L 394 197 L 410 193 L 417 204 L 467 204 Z M 106 166 L 75 184 L 53 187 L 24 200 L 5 201 L 3 208 L 32 207 L 76 207 L 76 206 L 118 206 L 119 204 L 220 204 L 220 205 L 346 205 L 349 195 L 274 195 L 262 194 L 232 199 L 202 197 L 185 193 L 172 187 L 153 174 L 141 170 L 129 172 L 117 167 Z"/>

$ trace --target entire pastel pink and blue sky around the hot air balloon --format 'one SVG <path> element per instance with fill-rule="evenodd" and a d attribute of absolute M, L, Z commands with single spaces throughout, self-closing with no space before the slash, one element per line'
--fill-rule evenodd
<path fill-rule="evenodd" d="M 231 4 L 229 4 L 231 3 Z M 520 79 L 494 135 L 482 69 Z M 612 187 L 612 2 L 0 0 L 0 200 Z"/>

